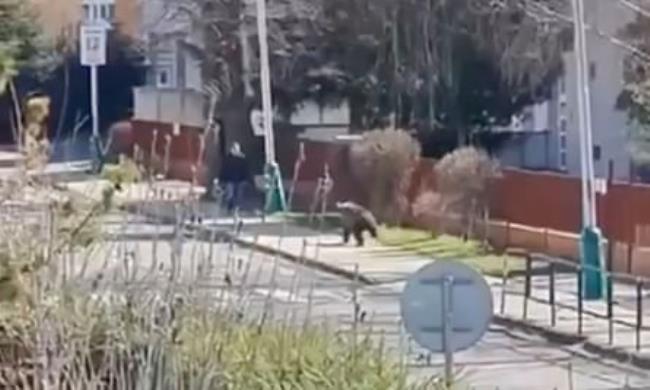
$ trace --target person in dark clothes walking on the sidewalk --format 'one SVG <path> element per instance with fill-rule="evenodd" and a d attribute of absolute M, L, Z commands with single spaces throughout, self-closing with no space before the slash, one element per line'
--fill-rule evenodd
<path fill-rule="evenodd" d="M 250 181 L 248 161 L 237 142 L 232 144 L 223 160 L 219 181 L 225 185 L 226 204 L 228 212 L 232 213 L 241 206 L 244 186 Z"/>

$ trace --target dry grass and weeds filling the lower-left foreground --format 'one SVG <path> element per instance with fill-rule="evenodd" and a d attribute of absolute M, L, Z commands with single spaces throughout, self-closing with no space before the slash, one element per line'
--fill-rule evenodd
<path fill-rule="evenodd" d="M 106 204 L 63 194 L 32 202 L 25 191 L 9 192 L 0 202 L 11 209 L 0 224 L 1 388 L 439 388 L 409 383 L 406 366 L 362 330 L 339 333 L 309 316 L 264 320 L 266 312 L 260 319 L 239 310 L 245 300 L 201 300 L 188 287 L 198 279 L 166 273 L 179 269 L 179 258 L 172 256 L 154 284 L 151 273 L 135 279 L 129 272 L 137 258 L 116 259 L 119 272 L 98 268 L 98 249 L 111 245 L 101 229 Z M 46 186 L 27 192 L 54 194 Z M 168 244 L 176 245 L 160 245 Z"/>

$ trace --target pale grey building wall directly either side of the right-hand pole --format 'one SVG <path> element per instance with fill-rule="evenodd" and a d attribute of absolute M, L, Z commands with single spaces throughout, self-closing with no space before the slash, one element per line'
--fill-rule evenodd
<path fill-rule="evenodd" d="M 630 152 L 628 120 L 624 111 L 616 109 L 616 101 L 623 90 L 623 60 L 626 50 L 615 45 L 610 37 L 633 20 L 633 12 L 618 1 L 588 0 L 585 3 L 587 55 L 591 89 L 591 118 L 594 142 L 594 171 L 597 177 L 607 177 L 609 161 L 614 163 L 614 176 L 629 179 Z M 606 35 L 601 36 L 598 32 Z M 576 67 L 573 52 L 564 54 L 565 75 L 558 83 L 557 105 L 560 107 L 556 128 L 558 144 L 561 136 L 561 118 L 567 120 L 566 172 L 580 174 L 580 134 Z M 562 107 L 559 95 L 564 90 L 566 105 Z M 600 149 L 600 156 L 596 149 Z M 558 168 L 563 168 L 558 166 Z"/>

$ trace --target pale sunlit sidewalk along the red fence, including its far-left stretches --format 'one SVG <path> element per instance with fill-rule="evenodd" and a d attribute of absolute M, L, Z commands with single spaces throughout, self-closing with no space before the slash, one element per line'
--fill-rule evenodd
<path fill-rule="evenodd" d="M 97 196 L 98 183 L 72 183 L 71 189 L 89 194 L 88 188 L 94 186 Z M 186 198 L 192 191 L 189 185 L 180 182 L 159 182 L 156 188 L 162 192 L 175 194 L 175 199 Z M 85 190 L 84 190 L 85 188 Z M 99 186 L 101 188 L 101 185 Z M 200 189 L 198 189 L 200 192 Z M 92 191 L 90 191 L 92 193 Z M 136 185 L 120 195 L 124 201 L 146 201 L 149 208 L 147 213 L 170 215 L 169 207 L 153 207 L 151 191 L 145 185 Z M 146 203 L 145 202 L 145 203 Z M 153 208 L 152 208 L 153 207 Z M 204 206 L 213 210 L 214 206 Z M 142 210 L 141 210 L 142 211 Z M 201 213 L 205 215 L 206 209 Z M 216 227 L 227 230 L 233 225 L 231 218 L 210 217 L 200 221 L 200 226 Z M 369 240 L 364 248 L 344 246 L 338 232 L 317 230 L 285 223 L 282 219 L 261 221 L 259 216 L 244 219 L 245 226 L 237 237 L 240 243 L 255 245 L 266 251 L 275 251 L 294 261 L 305 261 L 310 265 L 321 266 L 329 271 L 335 271 L 348 277 L 373 284 L 390 286 L 399 291 L 404 282 L 413 272 L 434 259 L 426 258 L 395 248 L 382 246 L 376 241 Z M 524 303 L 523 278 L 510 279 L 504 286 L 500 278 L 486 277 L 492 288 L 495 312 L 502 320 L 512 320 L 518 326 L 529 327 L 540 332 L 547 332 L 549 337 L 563 336 L 561 340 L 581 344 L 585 348 L 596 350 L 611 357 L 635 361 L 639 365 L 650 366 L 650 327 L 641 330 L 637 353 L 637 321 L 634 286 L 617 284 L 615 298 L 617 304 L 613 313 L 615 321 L 607 320 L 607 307 L 603 301 L 585 302 L 582 321 L 582 334 L 579 336 L 579 317 L 577 312 L 577 285 L 575 275 L 558 274 L 556 276 L 555 310 L 548 304 L 550 298 L 549 277 L 547 275 L 533 277 L 531 299 Z M 650 301 L 650 298 L 647 299 Z M 526 314 L 524 315 L 524 308 Z M 595 316 L 593 314 L 596 314 Z M 553 323 L 552 318 L 555 318 Z M 650 324 L 650 310 L 641 315 L 643 324 Z M 611 343 L 610 343 L 611 341 Z M 647 354 L 647 355 L 646 355 Z"/>

